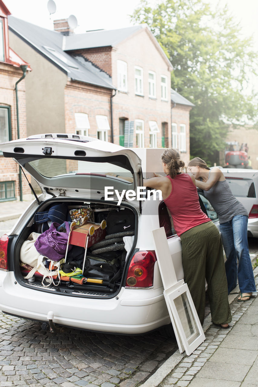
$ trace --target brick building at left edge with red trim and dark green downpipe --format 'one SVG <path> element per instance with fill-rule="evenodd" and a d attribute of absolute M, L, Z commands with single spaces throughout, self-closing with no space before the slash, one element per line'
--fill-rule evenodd
<path fill-rule="evenodd" d="M 9 10 L 0 0 L 0 142 L 26 137 L 25 82 L 22 79 L 31 70 L 9 47 L 8 15 Z M 22 198 L 29 193 L 18 164 L 5 159 L 0 152 L 0 201 Z"/>

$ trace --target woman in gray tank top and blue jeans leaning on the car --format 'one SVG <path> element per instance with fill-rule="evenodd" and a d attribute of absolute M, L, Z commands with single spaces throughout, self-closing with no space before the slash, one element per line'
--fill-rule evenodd
<path fill-rule="evenodd" d="M 228 293 L 236 287 L 238 277 L 241 292 L 238 301 L 248 301 L 256 291 L 248 248 L 248 212 L 232 194 L 220 168 L 214 167 L 211 171 L 205 161 L 195 157 L 189 162 L 188 170 L 193 173 L 196 186 L 203 190 L 204 196 L 218 215 L 222 243 L 227 257 L 225 270 Z"/>

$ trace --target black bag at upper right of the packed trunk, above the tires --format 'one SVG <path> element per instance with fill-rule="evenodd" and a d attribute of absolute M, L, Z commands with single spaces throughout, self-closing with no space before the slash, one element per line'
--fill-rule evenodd
<path fill-rule="evenodd" d="M 125 208 L 124 210 L 112 210 L 107 216 L 107 234 L 120 233 L 122 231 L 134 230 L 134 213 Z"/>

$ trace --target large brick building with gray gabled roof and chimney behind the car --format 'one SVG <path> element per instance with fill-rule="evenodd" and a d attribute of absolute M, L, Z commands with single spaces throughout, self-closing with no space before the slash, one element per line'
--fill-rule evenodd
<path fill-rule="evenodd" d="M 76 132 L 126 147 L 173 144 L 189 161 L 194 105 L 174 91 L 170 98 L 172 64 L 148 26 L 74 34 L 67 19 L 49 31 L 12 16 L 9 26 L 12 46 L 33 68 L 25 79 L 28 135 Z"/>

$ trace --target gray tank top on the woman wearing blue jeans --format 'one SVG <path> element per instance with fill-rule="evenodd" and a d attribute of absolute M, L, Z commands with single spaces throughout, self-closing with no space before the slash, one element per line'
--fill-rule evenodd
<path fill-rule="evenodd" d="M 236 215 L 247 215 L 245 207 L 232 194 L 227 180 L 217 182 L 204 196 L 217 212 L 220 223 L 229 222 Z"/>

